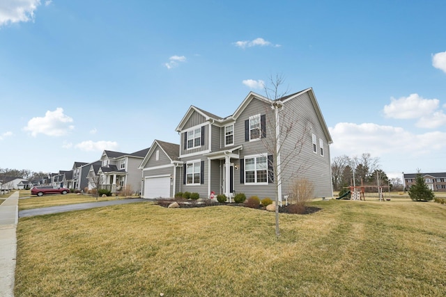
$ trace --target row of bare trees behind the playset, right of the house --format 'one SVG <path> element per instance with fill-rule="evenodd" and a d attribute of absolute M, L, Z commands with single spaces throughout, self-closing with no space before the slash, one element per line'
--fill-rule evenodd
<path fill-rule="evenodd" d="M 361 156 L 337 156 L 332 159 L 332 184 L 334 191 L 346 186 L 390 186 L 392 191 L 402 191 L 399 177 L 389 179 L 380 169 L 379 159 L 364 153 Z M 367 190 L 366 190 L 367 191 Z"/>

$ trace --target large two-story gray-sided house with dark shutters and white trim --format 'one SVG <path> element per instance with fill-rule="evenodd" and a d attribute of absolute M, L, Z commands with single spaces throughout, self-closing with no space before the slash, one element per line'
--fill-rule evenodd
<path fill-rule="evenodd" d="M 284 116 L 297 119 L 289 136 L 280 138 L 284 151 L 294 150 L 295 142 L 300 138 L 303 142 L 298 158 L 282 168 L 279 199 L 282 201 L 289 195 L 291 179 L 295 177 L 294 168 L 302 165 L 306 169 L 298 172 L 299 177 L 312 182 L 314 196 L 332 197 L 329 147 L 332 138 L 312 88 L 277 101 L 251 92 L 235 113 L 226 118 L 190 106 L 176 128 L 180 134 L 178 160 L 167 158 L 158 165 L 153 161 L 154 148 L 144 159 L 145 163 L 141 163 L 144 179 L 169 175 L 169 170 L 173 172 L 172 179 L 180 183 L 177 185 L 172 181 L 170 197 L 174 195 L 172 191 L 188 191 L 197 192 L 202 198 L 211 192 L 227 197 L 245 193 L 247 197 L 274 198 L 273 160 L 267 149 L 267 144 L 271 144 L 277 133 L 267 127 L 267 123 L 275 122 L 274 106 L 280 107 L 279 122 L 291 120 L 284 119 Z M 283 135 L 281 129 L 284 128 L 284 125 L 279 125 L 277 135 Z M 155 144 L 162 148 L 159 141 Z M 169 163 L 171 168 L 167 170 Z M 181 165 L 183 167 L 178 173 L 177 167 Z M 151 191 L 155 188 L 151 186 L 155 187 L 155 183 L 146 182 L 145 185 L 144 197 L 154 196 Z"/>

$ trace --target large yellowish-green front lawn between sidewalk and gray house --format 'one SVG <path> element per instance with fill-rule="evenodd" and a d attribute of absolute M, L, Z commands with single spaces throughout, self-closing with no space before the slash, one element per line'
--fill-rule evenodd
<path fill-rule="evenodd" d="M 446 205 L 134 203 L 21 218 L 15 296 L 445 296 Z"/>

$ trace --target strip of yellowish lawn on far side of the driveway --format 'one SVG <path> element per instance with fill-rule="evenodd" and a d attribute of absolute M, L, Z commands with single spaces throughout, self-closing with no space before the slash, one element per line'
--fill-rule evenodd
<path fill-rule="evenodd" d="M 29 198 L 19 199 L 19 210 L 119 199 L 119 197 L 114 196 L 98 197 L 96 199 L 91 195 L 77 195 L 75 193 L 68 193 L 66 195 L 43 195 L 42 197 L 33 195 L 27 197 Z"/>

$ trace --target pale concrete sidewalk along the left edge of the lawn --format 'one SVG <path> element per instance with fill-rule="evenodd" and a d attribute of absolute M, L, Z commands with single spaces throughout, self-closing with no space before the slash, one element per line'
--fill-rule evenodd
<path fill-rule="evenodd" d="M 0 204 L 0 296 L 14 296 L 19 192 Z"/>

